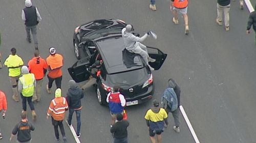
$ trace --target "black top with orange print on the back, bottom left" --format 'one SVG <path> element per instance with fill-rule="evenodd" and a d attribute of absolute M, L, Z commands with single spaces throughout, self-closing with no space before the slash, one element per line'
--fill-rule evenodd
<path fill-rule="evenodd" d="M 20 142 L 29 141 L 31 139 L 30 131 L 35 130 L 35 127 L 30 122 L 20 121 L 12 130 L 12 134 L 17 134 L 17 140 Z"/>

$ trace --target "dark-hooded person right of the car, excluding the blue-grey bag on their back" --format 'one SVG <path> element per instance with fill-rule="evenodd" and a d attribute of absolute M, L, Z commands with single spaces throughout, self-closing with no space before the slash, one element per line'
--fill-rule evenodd
<path fill-rule="evenodd" d="M 165 109 L 167 114 L 169 112 L 172 112 L 172 115 L 174 117 L 174 123 L 175 123 L 175 126 L 173 126 L 173 129 L 177 133 L 179 133 L 180 132 L 180 119 L 179 119 L 179 116 L 180 116 L 180 110 L 179 110 L 179 107 L 180 107 L 180 87 L 175 82 L 175 80 L 173 78 L 170 78 L 168 80 L 168 88 L 174 89 L 174 92 L 176 93 L 177 100 L 178 100 L 178 108 L 176 110 L 172 111 L 172 109 L 168 106 L 168 102 L 165 98 L 163 98 L 163 103 L 162 104 L 163 104 L 163 108 Z"/>

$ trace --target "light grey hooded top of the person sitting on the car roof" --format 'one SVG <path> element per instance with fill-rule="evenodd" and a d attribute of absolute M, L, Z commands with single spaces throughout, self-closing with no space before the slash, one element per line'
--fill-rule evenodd
<path fill-rule="evenodd" d="M 144 41 L 148 37 L 147 34 L 144 34 L 141 38 L 134 36 L 133 33 L 126 32 L 126 28 L 122 29 L 122 38 L 124 46 L 127 50 L 131 51 L 139 47 L 138 42 Z"/>

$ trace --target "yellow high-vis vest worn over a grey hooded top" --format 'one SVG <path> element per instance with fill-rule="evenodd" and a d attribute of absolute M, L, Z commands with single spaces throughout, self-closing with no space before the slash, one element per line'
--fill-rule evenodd
<path fill-rule="evenodd" d="M 33 73 L 24 74 L 22 77 L 19 77 L 20 82 L 23 85 L 22 95 L 24 97 L 31 97 L 34 93 L 34 81 L 35 76 Z"/>

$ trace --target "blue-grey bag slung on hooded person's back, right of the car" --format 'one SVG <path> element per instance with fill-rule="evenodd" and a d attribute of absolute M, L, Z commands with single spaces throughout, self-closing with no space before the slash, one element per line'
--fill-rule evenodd
<path fill-rule="evenodd" d="M 167 88 L 164 90 L 161 101 L 163 102 L 164 99 L 167 100 L 167 105 L 170 107 L 171 111 L 175 111 L 178 108 L 178 99 L 173 88 Z"/>

